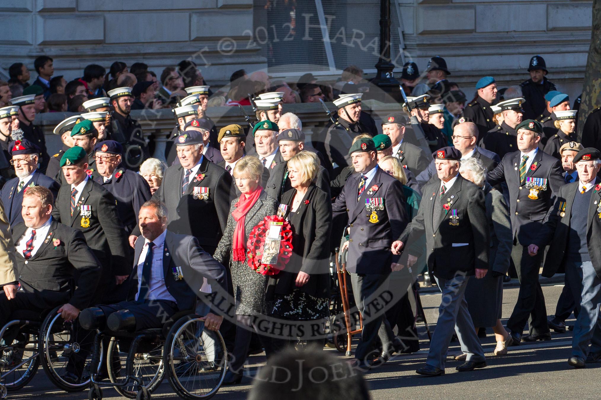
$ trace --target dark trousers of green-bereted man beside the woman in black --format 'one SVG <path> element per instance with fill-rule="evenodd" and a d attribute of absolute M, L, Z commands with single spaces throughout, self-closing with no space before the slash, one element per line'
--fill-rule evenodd
<path fill-rule="evenodd" d="M 373 353 L 376 338 L 382 341 L 382 351 L 389 351 L 395 336 L 386 319 L 385 310 L 376 312 L 370 301 L 377 297 L 383 290 L 388 288 L 388 276 L 379 274 L 350 274 L 350 282 L 353 285 L 353 297 L 355 304 L 363 316 L 363 330 L 361 330 L 361 342 L 355 350 L 355 358 L 371 362 L 379 354 Z M 379 314 L 379 315 L 373 315 Z"/>

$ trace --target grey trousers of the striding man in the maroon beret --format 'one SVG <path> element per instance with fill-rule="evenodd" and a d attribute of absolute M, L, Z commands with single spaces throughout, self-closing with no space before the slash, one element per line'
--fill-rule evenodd
<path fill-rule="evenodd" d="M 437 278 L 436 283 L 442 291 L 441 305 L 436 329 L 430 342 L 430 351 L 426 364 L 445 369 L 445 360 L 453 332 L 457 333 L 461 350 L 468 354 L 467 361 L 484 361 L 484 350 L 474 329 L 465 301 L 465 288 L 469 276 L 458 275 L 453 279 Z"/>

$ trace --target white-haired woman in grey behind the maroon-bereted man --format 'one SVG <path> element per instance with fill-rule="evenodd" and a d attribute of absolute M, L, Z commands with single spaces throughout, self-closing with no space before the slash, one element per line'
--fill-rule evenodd
<path fill-rule="evenodd" d="M 490 251 L 489 261 L 492 263 L 490 272 L 483 279 L 470 277 L 465 290 L 465 300 L 468 302 L 469 315 L 472 316 L 476 332 L 478 329 L 492 327 L 495 332 L 495 356 L 507 354 L 507 347 L 512 339 L 501 323 L 503 303 L 503 276 L 509 268 L 513 233 L 509 208 L 503 195 L 486 182 L 486 167 L 482 161 L 469 157 L 461 162 L 459 173 L 463 178 L 473 182 L 484 190 L 486 198 L 486 216 L 489 220 Z M 465 359 L 467 354 L 461 354 L 456 359 Z"/>

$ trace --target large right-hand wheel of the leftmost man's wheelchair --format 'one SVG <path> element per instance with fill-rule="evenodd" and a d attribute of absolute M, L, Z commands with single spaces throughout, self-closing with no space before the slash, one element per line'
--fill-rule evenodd
<path fill-rule="evenodd" d="M 66 322 L 56 310 L 44 319 L 40 336 L 41 365 L 56 387 L 66 392 L 81 392 L 90 386 L 90 350 L 94 335 L 96 331 L 82 329 L 78 321 Z M 78 375 L 79 383 L 65 380 L 67 371 Z"/>

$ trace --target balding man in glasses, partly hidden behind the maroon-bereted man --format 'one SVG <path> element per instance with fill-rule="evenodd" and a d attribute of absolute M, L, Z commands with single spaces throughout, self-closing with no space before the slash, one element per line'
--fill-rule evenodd
<path fill-rule="evenodd" d="M 461 118 L 459 119 L 461 121 Z M 482 161 L 484 167 L 490 172 L 497 164 L 501 162 L 501 158 L 492 151 L 483 149 L 477 145 L 478 143 L 478 127 L 474 122 L 459 122 L 453 128 L 453 146 L 461 152 L 462 160 L 468 157 L 474 157 Z M 435 161 L 429 164 L 427 169 L 424 169 L 416 178 L 419 187 L 423 187 L 429 182 L 432 177 L 436 176 Z"/>

